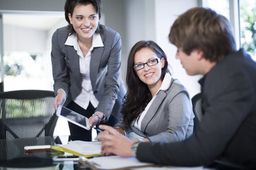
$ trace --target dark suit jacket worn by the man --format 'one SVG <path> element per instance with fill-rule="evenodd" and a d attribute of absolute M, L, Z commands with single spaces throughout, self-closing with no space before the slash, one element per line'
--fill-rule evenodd
<path fill-rule="evenodd" d="M 200 80 L 204 117 L 179 143 L 141 143 L 136 157 L 160 165 L 210 165 L 224 158 L 256 168 L 256 63 L 240 49 Z"/>

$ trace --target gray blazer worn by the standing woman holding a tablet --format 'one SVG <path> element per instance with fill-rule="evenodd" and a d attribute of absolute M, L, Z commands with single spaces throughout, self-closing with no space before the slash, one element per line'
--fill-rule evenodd
<path fill-rule="evenodd" d="M 99 25 L 104 47 L 94 48 L 90 62 L 92 90 L 99 104 L 96 111 L 103 112 L 107 119 L 112 114 L 117 119 L 126 90 L 120 77 L 121 38 L 118 32 Z M 54 92 L 63 88 L 67 94 L 64 106 L 74 100 L 82 90 L 79 57 L 74 47 L 65 45 L 67 27 L 56 30 L 52 36 L 52 73 Z M 113 109 L 113 112 L 112 112 Z"/>

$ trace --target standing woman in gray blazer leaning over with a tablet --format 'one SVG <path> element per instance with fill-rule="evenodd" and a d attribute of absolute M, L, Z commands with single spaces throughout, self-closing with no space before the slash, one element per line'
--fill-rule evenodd
<path fill-rule="evenodd" d="M 67 106 L 97 123 L 116 124 L 125 87 L 120 78 L 121 38 L 99 24 L 101 0 L 67 0 L 66 27 L 52 36 L 54 108 Z M 92 130 L 69 123 L 72 140 L 92 141 Z"/>

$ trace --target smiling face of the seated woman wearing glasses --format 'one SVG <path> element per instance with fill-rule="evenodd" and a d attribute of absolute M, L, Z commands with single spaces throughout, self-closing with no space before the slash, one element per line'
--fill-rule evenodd
<path fill-rule="evenodd" d="M 149 60 L 154 58 L 158 58 L 158 56 L 156 56 L 156 53 L 152 49 L 148 47 L 142 48 L 135 53 L 134 65 L 144 64 L 145 62 L 149 62 Z M 158 64 L 154 66 L 148 66 L 147 64 L 144 64 L 144 68 L 136 71 L 136 73 L 139 79 L 147 84 L 149 90 L 151 90 L 151 88 L 156 88 L 158 90 L 162 84 L 160 77 L 163 67 L 164 58 L 161 58 Z"/>

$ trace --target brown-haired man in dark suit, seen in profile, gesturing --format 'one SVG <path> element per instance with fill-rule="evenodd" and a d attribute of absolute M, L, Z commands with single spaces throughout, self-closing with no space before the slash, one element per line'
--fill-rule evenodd
<path fill-rule="evenodd" d="M 195 133 L 177 143 L 131 143 L 101 126 L 104 154 L 136 156 L 159 165 L 200 166 L 224 160 L 256 168 L 256 63 L 235 48 L 228 20 L 206 8 L 192 8 L 173 23 L 169 40 L 189 75 L 204 75 L 204 117 Z M 219 168 L 219 167 L 218 167 Z"/>

